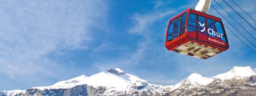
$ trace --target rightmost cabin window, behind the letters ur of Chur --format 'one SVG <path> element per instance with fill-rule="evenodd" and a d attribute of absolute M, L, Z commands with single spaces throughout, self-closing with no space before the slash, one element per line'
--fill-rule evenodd
<path fill-rule="evenodd" d="M 222 29 L 222 26 L 220 22 L 214 21 L 215 27 L 216 27 L 216 36 L 217 38 L 220 38 L 222 41 L 226 42 L 226 38 Z"/>

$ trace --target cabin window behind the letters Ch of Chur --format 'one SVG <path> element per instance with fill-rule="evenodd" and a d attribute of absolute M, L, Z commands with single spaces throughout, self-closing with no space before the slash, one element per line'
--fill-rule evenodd
<path fill-rule="evenodd" d="M 207 32 L 208 32 L 209 36 L 216 37 L 216 31 L 215 31 L 212 19 L 207 18 L 207 27 L 208 27 Z"/>

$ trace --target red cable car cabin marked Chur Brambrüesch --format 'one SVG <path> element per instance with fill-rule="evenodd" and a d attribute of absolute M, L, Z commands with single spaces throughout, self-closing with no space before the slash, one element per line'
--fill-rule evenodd
<path fill-rule="evenodd" d="M 221 19 L 193 9 L 169 20 L 165 47 L 201 59 L 207 59 L 229 48 Z"/>

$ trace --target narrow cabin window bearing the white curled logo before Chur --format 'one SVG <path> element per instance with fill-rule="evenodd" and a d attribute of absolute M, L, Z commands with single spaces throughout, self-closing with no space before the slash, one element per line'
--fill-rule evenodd
<path fill-rule="evenodd" d="M 198 15 L 198 32 L 206 35 L 205 18 Z"/>

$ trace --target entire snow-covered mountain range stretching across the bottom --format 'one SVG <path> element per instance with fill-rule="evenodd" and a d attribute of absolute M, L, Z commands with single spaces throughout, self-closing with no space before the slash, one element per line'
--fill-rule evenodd
<path fill-rule="evenodd" d="M 42 92 L 44 93 L 44 95 L 48 95 L 48 94 L 56 95 L 57 93 L 63 92 L 64 89 L 68 89 L 68 88 L 75 89 L 76 90 L 74 91 L 75 93 L 79 91 L 81 88 L 83 90 L 84 86 L 85 88 L 89 88 L 85 90 L 90 90 L 86 92 L 91 92 L 90 93 L 91 95 L 100 94 L 100 95 L 112 96 L 112 95 L 131 95 L 134 93 L 139 94 L 140 96 L 154 95 L 154 94 L 163 95 L 167 92 L 172 92 L 175 90 L 179 92 L 180 91 L 179 89 L 190 90 L 193 88 L 203 88 L 204 85 L 211 83 L 215 79 L 220 79 L 220 80 L 232 79 L 232 78 L 243 79 L 244 77 L 248 77 L 251 75 L 256 75 L 256 71 L 254 68 L 233 67 L 229 72 L 218 74 L 212 78 L 207 78 L 207 77 L 203 77 L 200 74 L 192 73 L 190 76 L 183 79 L 181 82 L 179 82 L 176 85 L 162 86 L 162 85 L 150 84 L 146 80 L 143 80 L 131 74 L 127 74 L 124 71 L 116 68 L 116 69 L 107 69 L 106 71 L 99 72 L 89 77 L 85 75 L 81 75 L 69 80 L 59 81 L 52 86 L 33 87 L 28 89 L 27 91 L 26 90 L 0 91 L 0 96 L 2 95 L 15 96 L 17 94 L 29 95 L 28 93 L 31 93 L 30 95 L 33 95 L 34 93 L 37 93 L 37 92 L 39 93 Z M 255 83 L 251 85 L 255 85 Z M 55 91 L 52 89 L 55 89 Z M 102 92 L 102 93 L 97 93 L 97 92 Z M 71 93 L 74 94 L 73 92 L 70 91 L 70 94 Z M 83 94 L 83 95 L 86 95 L 86 94 Z"/>

